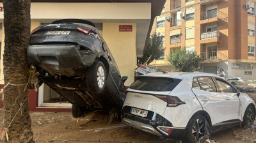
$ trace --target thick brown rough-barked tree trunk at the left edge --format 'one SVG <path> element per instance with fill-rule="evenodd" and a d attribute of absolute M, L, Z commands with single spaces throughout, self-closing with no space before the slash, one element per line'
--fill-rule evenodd
<path fill-rule="evenodd" d="M 28 110 L 26 47 L 30 36 L 30 0 L 3 0 L 4 127 L 9 142 L 33 142 Z M 5 138 L 6 141 L 7 137 Z"/>

